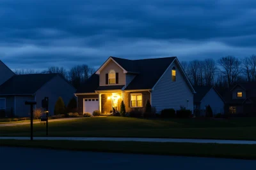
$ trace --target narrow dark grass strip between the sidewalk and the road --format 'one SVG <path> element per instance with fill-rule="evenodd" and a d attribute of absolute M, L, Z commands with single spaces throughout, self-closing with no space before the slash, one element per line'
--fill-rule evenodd
<path fill-rule="evenodd" d="M 120 141 L 16 141 L 1 140 L 0 146 L 51 148 L 91 152 L 141 153 L 155 155 L 180 155 L 192 157 L 221 157 L 256 159 L 256 145 L 226 145 L 202 143 L 148 143 Z"/>

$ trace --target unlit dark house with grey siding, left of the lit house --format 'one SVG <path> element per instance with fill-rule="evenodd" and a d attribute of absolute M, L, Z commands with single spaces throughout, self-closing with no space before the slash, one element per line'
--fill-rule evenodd
<path fill-rule="evenodd" d="M 4 65 L 4 67 L 6 67 Z M 3 65 L 0 66 L 0 70 Z M 4 75 L 0 72 L 0 79 Z M 49 97 L 49 114 L 54 114 L 54 105 L 62 97 L 67 105 L 76 89 L 60 74 L 12 74 L 0 85 L 0 109 L 6 115 L 28 117 L 30 108 L 25 101 L 36 101 L 37 108 L 42 107 L 42 99 Z"/>

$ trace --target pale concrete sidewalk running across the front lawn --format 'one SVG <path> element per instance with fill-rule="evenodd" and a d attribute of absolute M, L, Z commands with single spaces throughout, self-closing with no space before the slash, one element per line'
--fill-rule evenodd
<path fill-rule="evenodd" d="M 0 137 L 0 139 L 29 140 L 30 137 Z M 141 141 L 170 143 L 220 143 L 256 145 L 256 141 L 217 140 L 217 139 L 170 139 L 170 138 L 89 138 L 89 137 L 34 137 L 35 140 L 70 140 L 70 141 Z"/>

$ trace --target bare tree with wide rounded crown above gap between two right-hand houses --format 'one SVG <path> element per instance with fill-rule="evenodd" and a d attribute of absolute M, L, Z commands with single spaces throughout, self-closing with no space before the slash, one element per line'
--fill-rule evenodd
<path fill-rule="evenodd" d="M 241 73 L 241 62 L 233 56 L 222 57 L 218 60 L 220 64 L 220 71 L 224 76 L 227 76 L 228 87 L 233 85 L 239 73 Z"/>

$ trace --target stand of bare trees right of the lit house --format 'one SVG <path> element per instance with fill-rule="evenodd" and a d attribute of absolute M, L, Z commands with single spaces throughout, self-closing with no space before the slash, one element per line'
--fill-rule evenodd
<path fill-rule="evenodd" d="M 183 61 L 181 66 L 195 86 L 230 87 L 237 82 L 256 81 L 256 55 Z"/>

